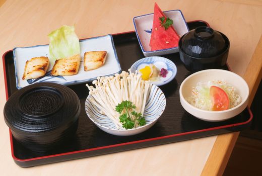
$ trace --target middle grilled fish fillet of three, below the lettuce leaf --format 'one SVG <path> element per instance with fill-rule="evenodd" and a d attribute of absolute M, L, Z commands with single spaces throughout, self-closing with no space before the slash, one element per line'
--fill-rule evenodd
<path fill-rule="evenodd" d="M 78 73 L 81 57 L 79 54 L 69 58 L 55 60 L 51 71 L 53 76 L 68 76 Z"/>

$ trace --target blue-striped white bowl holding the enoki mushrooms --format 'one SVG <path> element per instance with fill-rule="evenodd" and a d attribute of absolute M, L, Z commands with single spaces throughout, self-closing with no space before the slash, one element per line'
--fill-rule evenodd
<path fill-rule="evenodd" d="M 91 96 L 89 95 L 85 103 L 85 110 L 89 119 L 104 132 L 117 136 L 130 136 L 148 130 L 157 122 L 166 107 L 166 98 L 164 93 L 159 89 L 159 87 L 153 84 L 144 112 L 144 117 L 147 122 L 146 125 L 135 129 L 121 130 L 116 129 L 114 123 L 107 116 L 100 113 L 100 109 L 92 104 L 90 98 Z"/>

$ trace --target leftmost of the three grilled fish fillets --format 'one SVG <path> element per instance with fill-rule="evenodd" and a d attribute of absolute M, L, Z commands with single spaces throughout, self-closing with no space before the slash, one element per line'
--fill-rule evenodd
<path fill-rule="evenodd" d="M 45 75 L 49 66 L 48 57 L 33 57 L 26 61 L 22 79 L 35 79 Z"/>

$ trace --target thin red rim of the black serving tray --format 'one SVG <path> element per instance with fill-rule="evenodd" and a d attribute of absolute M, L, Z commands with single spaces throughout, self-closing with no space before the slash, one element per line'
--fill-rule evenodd
<path fill-rule="evenodd" d="M 203 21 L 203 20 L 194 20 L 194 21 L 189 21 L 187 23 L 193 23 L 193 22 L 203 22 L 203 23 L 206 23 L 208 27 L 210 27 L 209 23 L 206 22 L 206 21 Z M 127 33 L 133 33 L 133 32 L 135 32 L 135 31 L 116 33 L 116 34 L 112 34 L 112 35 L 120 35 L 120 34 L 127 34 Z M 88 39 L 88 38 L 84 38 L 84 39 L 81 39 L 81 40 L 85 40 L 85 39 Z M 11 52 L 11 51 L 13 51 L 13 49 L 8 50 L 8 51 L 6 51 L 3 54 L 3 70 L 4 70 L 4 78 L 5 78 L 6 100 L 8 100 L 9 96 L 8 96 L 8 85 L 7 85 L 5 56 L 6 56 L 6 54 L 8 52 Z M 230 67 L 229 67 L 228 63 L 227 63 L 227 66 L 228 66 L 228 68 L 230 70 Z M 118 147 L 118 146 L 129 145 L 129 144 L 136 144 L 136 143 L 154 141 L 154 140 L 159 140 L 159 139 L 166 139 L 166 138 L 171 138 L 171 137 L 175 137 L 175 136 L 182 136 L 182 135 L 193 134 L 193 133 L 198 133 L 198 132 L 205 132 L 205 131 L 211 131 L 211 130 L 216 130 L 216 129 L 223 129 L 223 128 L 228 128 L 228 127 L 234 127 L 234 126 L 248 124 L 252 120 L 253 114 L 252 114 L 250 108 L 247 107 L 247 110 L 248 110 L 248 113 L 250 115 L 250 118 L 246 122 L 241 122 L 241 123 L 236 123 L 236 124 L 231 124 L 231 125 L 224 125 L 224 126 L 219 126 L 219 127 L 212 127 L 212 128 L 202 129 L 202 130 L 189 131 L 189 132 L 178 133 L 178 134 L 172 134 L 172 135 L 167 135 L 167 136 L 160 136 L 160 137 L 143 139 L 143 140 L 132 141 L 132 142 L 124 142 L 124 143 L 119 143 L 119 144 L 114 144 L 114 145 L 107 145 L 107 146 L 102 146 L 102 147 L 95 147 L 95 148 L 89 148 L 89 149 L 83 149 L 83 150 L 77 150 L 77 151 L 71 151 L 71 152 L 65 152 L 65 153 L 58 153 L 58 154 L 53 154 L 53 155 L 46 155 L 46 156 L 28 158 L 28 159 L 19 159 L 19 158 L 17 158 L 15 156 L 15 154 L 14 154 L 14 145 L 13 145 L 13 136 L 12 136 L 11 129 L 9 129 L 11 153 L 12 153 L 12 157 L 13 157 L 14 160 L 19 161 L 19 162 L 26 162 L 26 161 L 32 161 L 32 160 L 38 160 L 38 159 L 44 159 L 44 158 L 50 158 L 50 157 L 58 157 L 58 156 L 63 156 L 63 155 L 70 155 L 70 154 L 88 152 L 88 151 L 105 149 L 105 148 Z"/>

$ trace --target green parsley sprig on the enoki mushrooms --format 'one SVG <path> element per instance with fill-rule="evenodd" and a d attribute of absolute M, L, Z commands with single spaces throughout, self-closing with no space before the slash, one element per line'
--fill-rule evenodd
<path fill-rule="evenodd" d="M 130 101 L 122 101 L 115 107 L 115 111 L 120 114 L 119 120 L 122 127 L 132 129 L 136 124 L 139 126 L 146 125 L 146 119 L 141 113 L 137 113 L 134 109 L 137 107 Z M 133 111 L 132 111 L 133 110 Z M 131 111 L 131 113 L 129 113 Z M 132 118 L 133 116 L 133 118 Z"/>

